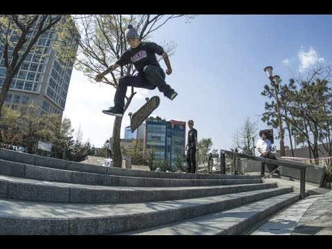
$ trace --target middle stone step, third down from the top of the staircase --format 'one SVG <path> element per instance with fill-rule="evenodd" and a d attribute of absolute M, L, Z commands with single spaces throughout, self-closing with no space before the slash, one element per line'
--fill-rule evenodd
<path fill-rule="evenodd" d="M 273 187 L 277 187 L 277 184 L 256 183 L 210 187 L 113 187 L 37 181 L 0 175 L 0 198 L 62 203 L 166 201 L 216 196 Z"/>

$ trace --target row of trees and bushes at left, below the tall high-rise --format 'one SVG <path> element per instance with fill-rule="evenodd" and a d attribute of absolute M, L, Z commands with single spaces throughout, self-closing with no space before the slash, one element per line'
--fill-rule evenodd
<path fill-rule="evenodd" d="M 30 154 L 37 154 L 38 141 L 52 145 L 50 156 L 80 162 L 86 156 L 95 154 L 95 147 L 89 140 L 82 141 L 82 131 L 74 136 L 71 120 L 59 115 L 42 114 L 35 116 L 39 107 L 28 104 L 21 111 L 3 107 L 1 113 L 0 142 L 26 147 Z"/>

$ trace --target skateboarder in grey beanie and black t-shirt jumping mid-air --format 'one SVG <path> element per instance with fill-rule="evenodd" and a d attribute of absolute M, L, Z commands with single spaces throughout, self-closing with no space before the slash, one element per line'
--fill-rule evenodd
<path fill-rule="evenodd" d="M 95 81 L 100 82 L 104 75 L 107 75 L 107 73 L 110 73 L 119 66 L 130 63 L 135 66 L 138 75 L 121 77 L 118 82 L 118 88 L 116 89 L 116 95 L 114 96 L 114 107 L 102 111 L 105 114 L 119 117 L 122 117 L 124 113 L 124 98 L 127 93 L 127 86 L 151 90 L 158 87 L 158 90 L 164 93 L 170 100 L 174 100 L 176 95 L 178 95 L 171 86 L 166 84 L 165 72 L 156 59 L 156 54 L 163 57 L 167 66 L 166 73 L 170 75 L 172 67 L 164 49 L 154 42 L 140 42 L 137 30 L 131 24 L 128 25 L 124 34 L 130 48 L 121 55 L 115 64 L 95 77 Z"/>

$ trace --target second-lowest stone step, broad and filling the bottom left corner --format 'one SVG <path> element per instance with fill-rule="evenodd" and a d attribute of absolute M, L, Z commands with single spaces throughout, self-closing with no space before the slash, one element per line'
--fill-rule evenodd
<path fill-rule="evenodd" d="M 129 232 L 228 210 L 246 203 L 254 202 L 252 207 L 259 209 L 260 205 L 255 202 L 292 191 L 291 187 L 275 187 L 196 199 L 124 204 L 37 203 L 0 199 L 0 234 Z M 299 198 L 299 194 L 293 196 L 294 199 Z M 272 203 L 270 200 L 267 202 Z M 283 202 L 276 199 L 275 203 Z M 242 212 L 254 213 L 252 207 L 244 208 Z M 277 210 L 277 204 L 274 210 Z M 236 215 L 237 212 L 234 212 L 233 216 Z M 254 222 L 254 219 L 247 223 L 250 222 Z M 227 232 L 232 233 L 232 230 Z"/>

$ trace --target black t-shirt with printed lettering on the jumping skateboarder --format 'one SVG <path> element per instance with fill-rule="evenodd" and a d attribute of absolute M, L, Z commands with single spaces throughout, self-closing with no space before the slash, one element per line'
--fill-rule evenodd
<path fill-rule="evenodd" d="M 154 42 L 140 42 L 137 48 L 128 48 L 126 52 L 121 55 L 116 64 L 124 66 L 132 63 L 139 73 L 142 73 L 143 68 L 147 65 L 159 66 L 157 55 L 163 55 L 164 49 Z"/>

